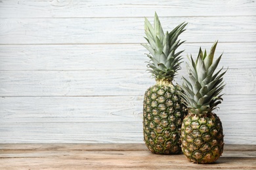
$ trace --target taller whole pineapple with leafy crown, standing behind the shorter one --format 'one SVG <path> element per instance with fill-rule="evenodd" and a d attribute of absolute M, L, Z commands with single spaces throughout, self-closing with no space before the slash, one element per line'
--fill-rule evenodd
<path fill-rule="evenodd" d="M 177 41 L 186 24 L 182 23 L 173 31 L 163 33 L 158 19 L 154 16 L 154 27 L 145 18 L 145 33 L 148 44 L 142 44 L 147 54 L 148 71 L 156 78 L 156 84 L 146 90 L 143 103 L 143 133 L 148 149 L 155 154 L 177 154 L 181 152 L 181 124 L 186 112 L 181 102 L 180 88 L 172 81 L 181 69 L 181 53 L 177 48 L 184 41 Z"/>

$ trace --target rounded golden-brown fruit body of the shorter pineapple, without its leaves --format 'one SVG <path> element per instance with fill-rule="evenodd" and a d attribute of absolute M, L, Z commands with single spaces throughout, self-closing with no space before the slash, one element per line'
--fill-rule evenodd
<path fill-rule="evenodd" d="M 194 163 L 213 163 L 223 153 L 223 126 L 213 112 L 198 116 L 189 113 L 182 122 L 182 152 Z"/>

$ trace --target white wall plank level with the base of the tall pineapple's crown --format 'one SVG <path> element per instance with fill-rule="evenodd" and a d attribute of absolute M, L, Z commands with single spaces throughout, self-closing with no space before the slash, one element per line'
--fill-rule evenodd
<path fill-rule="evenodd" d="M 181 84 L 179 71 L 176 80 Z M 227 95 L 255 95 L 256 69 L 228 69 L 224 75 Z M 0 95 L 95 96 L 144 95 L 156 82 L 144 70 L 120 71 L 0 71 Z"/>

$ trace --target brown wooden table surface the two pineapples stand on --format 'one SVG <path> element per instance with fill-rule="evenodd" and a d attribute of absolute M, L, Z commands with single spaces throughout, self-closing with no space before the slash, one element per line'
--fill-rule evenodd
<path fill-rule="evenodd" d="M 224 145 L 212 164 L 152 154 L 144 144 L 0 144 L 0 169 L 256 169 L 256 145 Z"/>

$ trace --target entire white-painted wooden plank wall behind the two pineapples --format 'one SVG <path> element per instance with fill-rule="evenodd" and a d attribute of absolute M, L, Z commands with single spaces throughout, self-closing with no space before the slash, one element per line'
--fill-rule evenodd
<path fill-rule="evenodd" d="M 225 143 L 256 144 L 250 0 L 0 0 L 0 143 L 143 143 L 142 99 L 154 80 L 140 43 L 155 11 L 165 31 L 189 23 L 184 56 L 219 40 Z"/>

